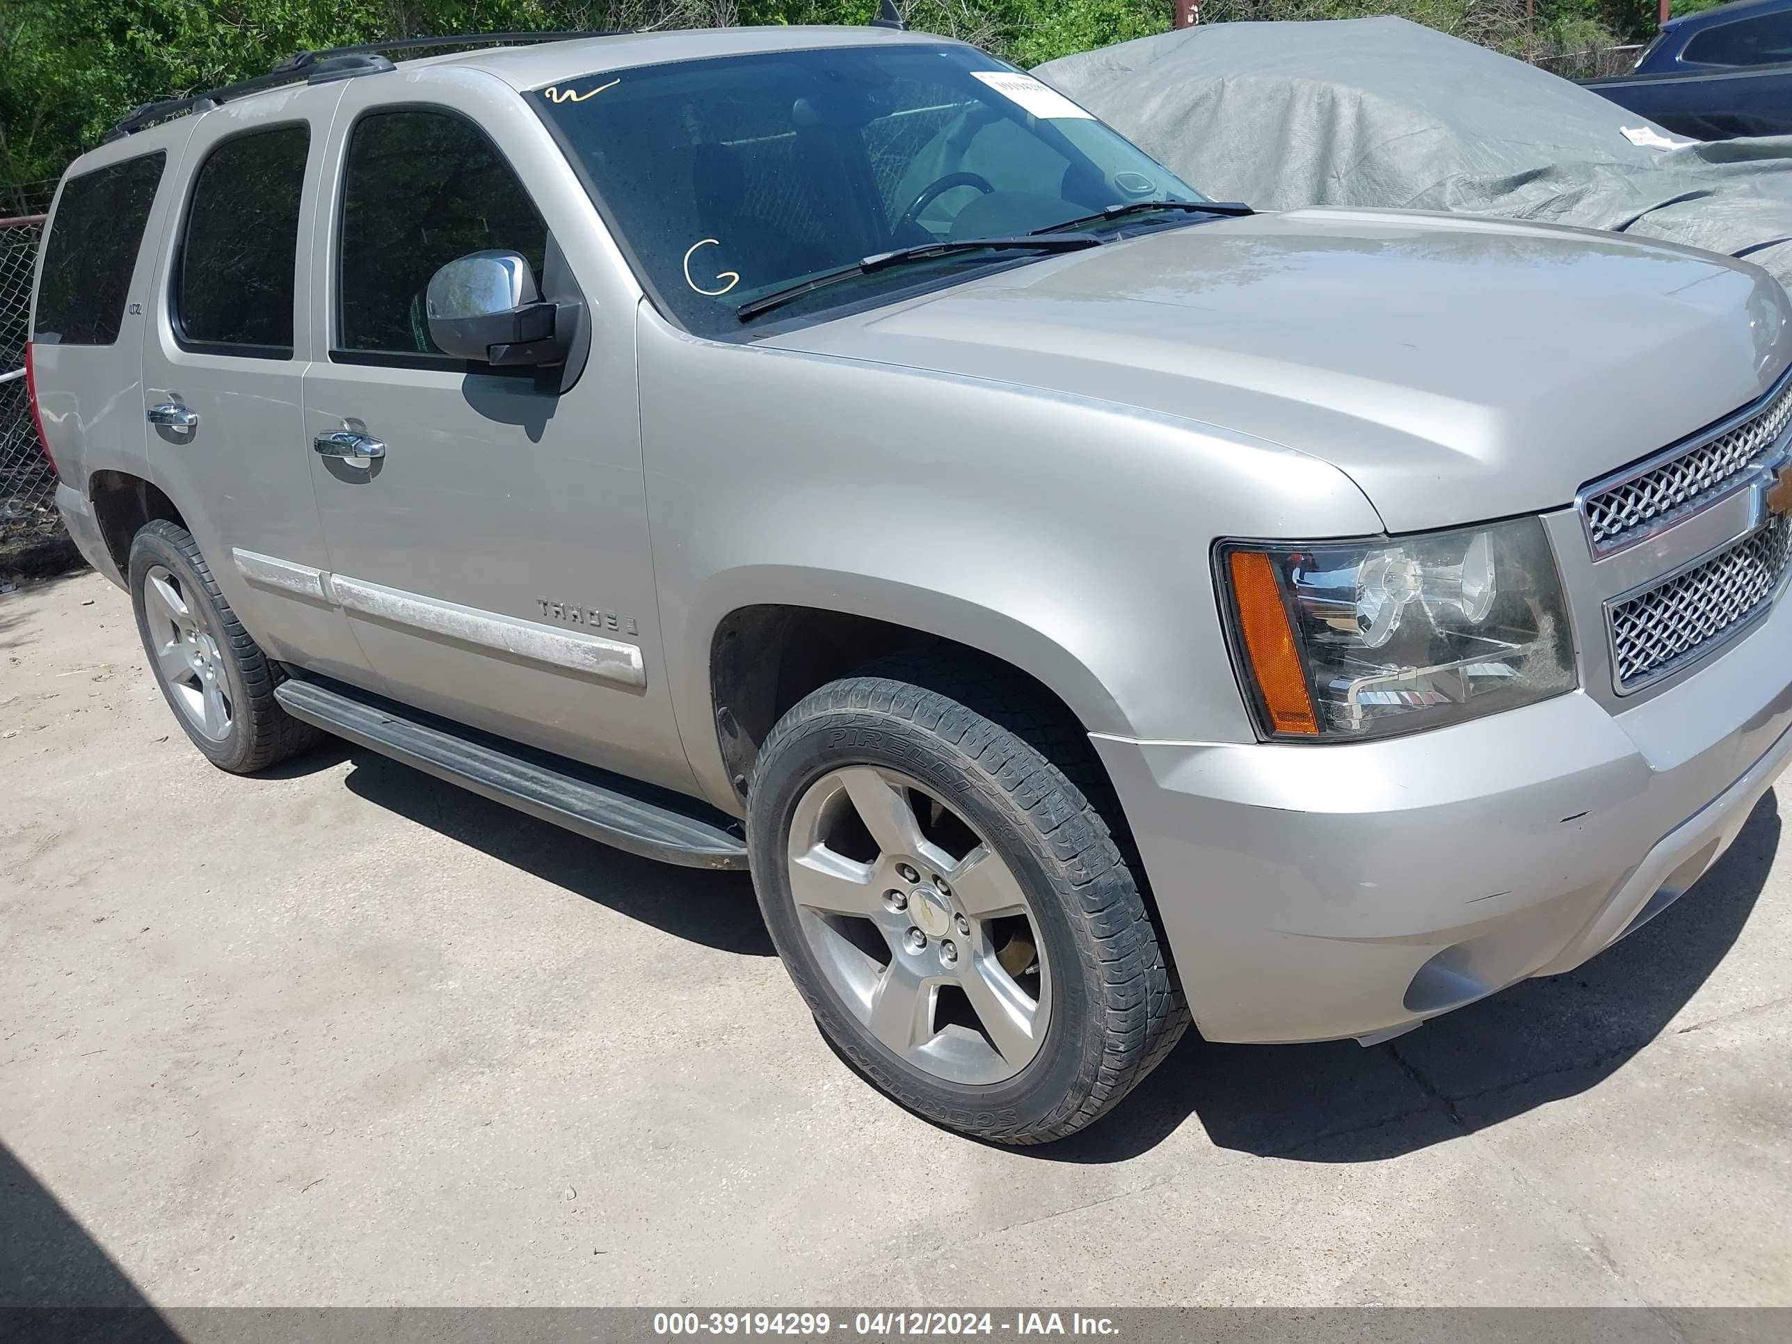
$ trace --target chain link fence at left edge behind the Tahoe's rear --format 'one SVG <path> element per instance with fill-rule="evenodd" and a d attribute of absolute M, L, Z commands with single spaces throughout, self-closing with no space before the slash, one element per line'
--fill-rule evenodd
<path fill-rule="evenodd" d="M 73 547 L 56 513 L 56 473 L 25 392 L 25 335 L 41 215 L 0 219 L 0 582 L 61 568 Z"/>

